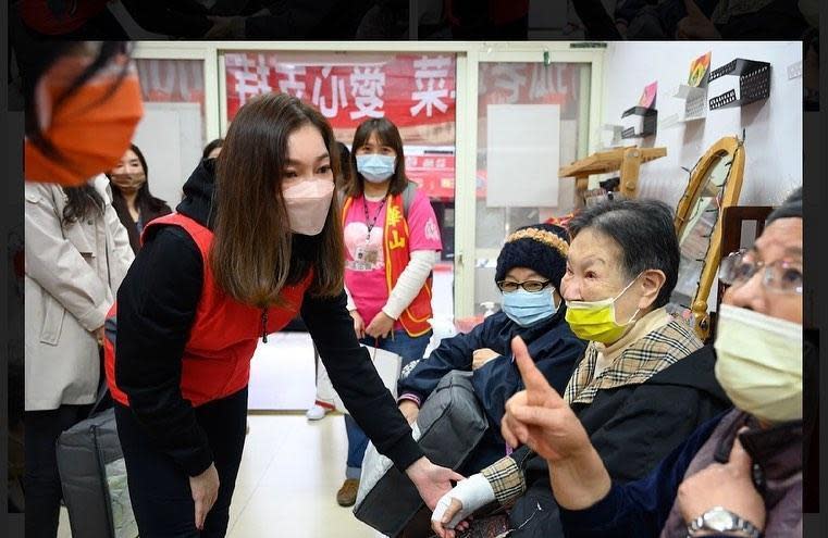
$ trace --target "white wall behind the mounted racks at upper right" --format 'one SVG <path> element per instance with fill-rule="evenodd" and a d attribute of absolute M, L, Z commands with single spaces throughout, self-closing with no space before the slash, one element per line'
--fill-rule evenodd
<path fill-rule="evenodd" d="M 604 62 L 604 124 L 621 123 L 621 113 L 638 103 L 644 86 L 658 80 L 659 121 L 683 112 L 673 88 L 687 84 L 690 62 L 712 51 L 710 68 L 734 58 L 771 64 L 770 97 L 743 108 L 707 111 L 706 120 L 659 126 L 645 139 L 625 146 L 664 146 L 667 157 L 644 164 L 639 197 L 656 198 L 676 207 L 687 187 L 688 173 L 699 158 L 724 136 L 745 129 L 744 182 L 741 205 L 776 205 L 802 185 L 802 77 L 789 79 L 788 66 L 802 59 L 798 42 L 613 42 Z M 713 96 L 709 96 L 713 97 Z"/>

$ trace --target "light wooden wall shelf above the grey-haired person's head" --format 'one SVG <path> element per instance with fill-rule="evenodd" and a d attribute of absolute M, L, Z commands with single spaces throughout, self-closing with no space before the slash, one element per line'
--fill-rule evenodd
<path fill-rule="evenodd" d="M 667 154 L 667 148 L 639 148 L 630 146 L 598 151 L 580 161 L 574 161 L 558 171 L 560 177 L 574 177 L 578 191 L 577 203 L 583 207 L 583 193 L 593 174 L 620 171 L 620 191 L 626 198 L 635 198 L 639 189 L 639 170 L 643 163 L 655 161 Z"/>

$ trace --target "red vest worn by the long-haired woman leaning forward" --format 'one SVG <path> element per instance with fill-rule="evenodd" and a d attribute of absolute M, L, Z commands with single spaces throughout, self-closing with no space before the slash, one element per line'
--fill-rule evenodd
<path fill-rule="evenodd" d="M 208 261 L 213 234 L 205 226 L 182 214 L 173 213 L 149 223 L 144 228 L 144 234 L 152 227 L 170 224 L 181 226 L 189 234 L 203 261 L 201 298 L 189 339 L 184 348 L 181 380 L 182 396 L 194 406 L 198 406 L 231 396 L 247 386 L 250 359 L 262 335 L 263 311 L 242 304 L 215 285 Z M 280 330 L 296 317 L 311 279 L 312 273 L 299 285 L 287 286 L 282 290 L 287 308 L 271 306 L 267 310 L 267 333 Z M 116 314 L 116 306 L 112 306 L 108 317 Z M 128 405 L 126 395 L 115 384 L 116 356 L 109 339 L 104 339 L 104 355 L 107 381 L 112 397 Z"/>

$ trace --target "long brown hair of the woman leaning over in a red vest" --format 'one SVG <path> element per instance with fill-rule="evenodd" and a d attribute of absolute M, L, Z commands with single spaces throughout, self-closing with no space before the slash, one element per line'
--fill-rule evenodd
<path fill-rule="evenodd" d="M 217 160 L 210 266 L 219 287 L 245 304 L 284 305 L 282 288 L 298 284 L 311 267 L 312 295 L 335 297 L 343 290 L 345 247 L 336 197 L 322 232 L 313 237 L 291 232 L 282 197 L 287 141 L 305 125 L 319 129 L 337 177 L 331 125 L 319 111 L 284 93 L 259 96 L 242 107 Z"/>

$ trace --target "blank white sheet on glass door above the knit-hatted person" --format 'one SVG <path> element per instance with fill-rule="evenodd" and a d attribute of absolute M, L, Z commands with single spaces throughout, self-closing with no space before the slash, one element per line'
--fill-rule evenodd
<path fill-rule="evenodd" d="M 486 205 L 558 205 L 560 107 L 490 104 Z"/>

